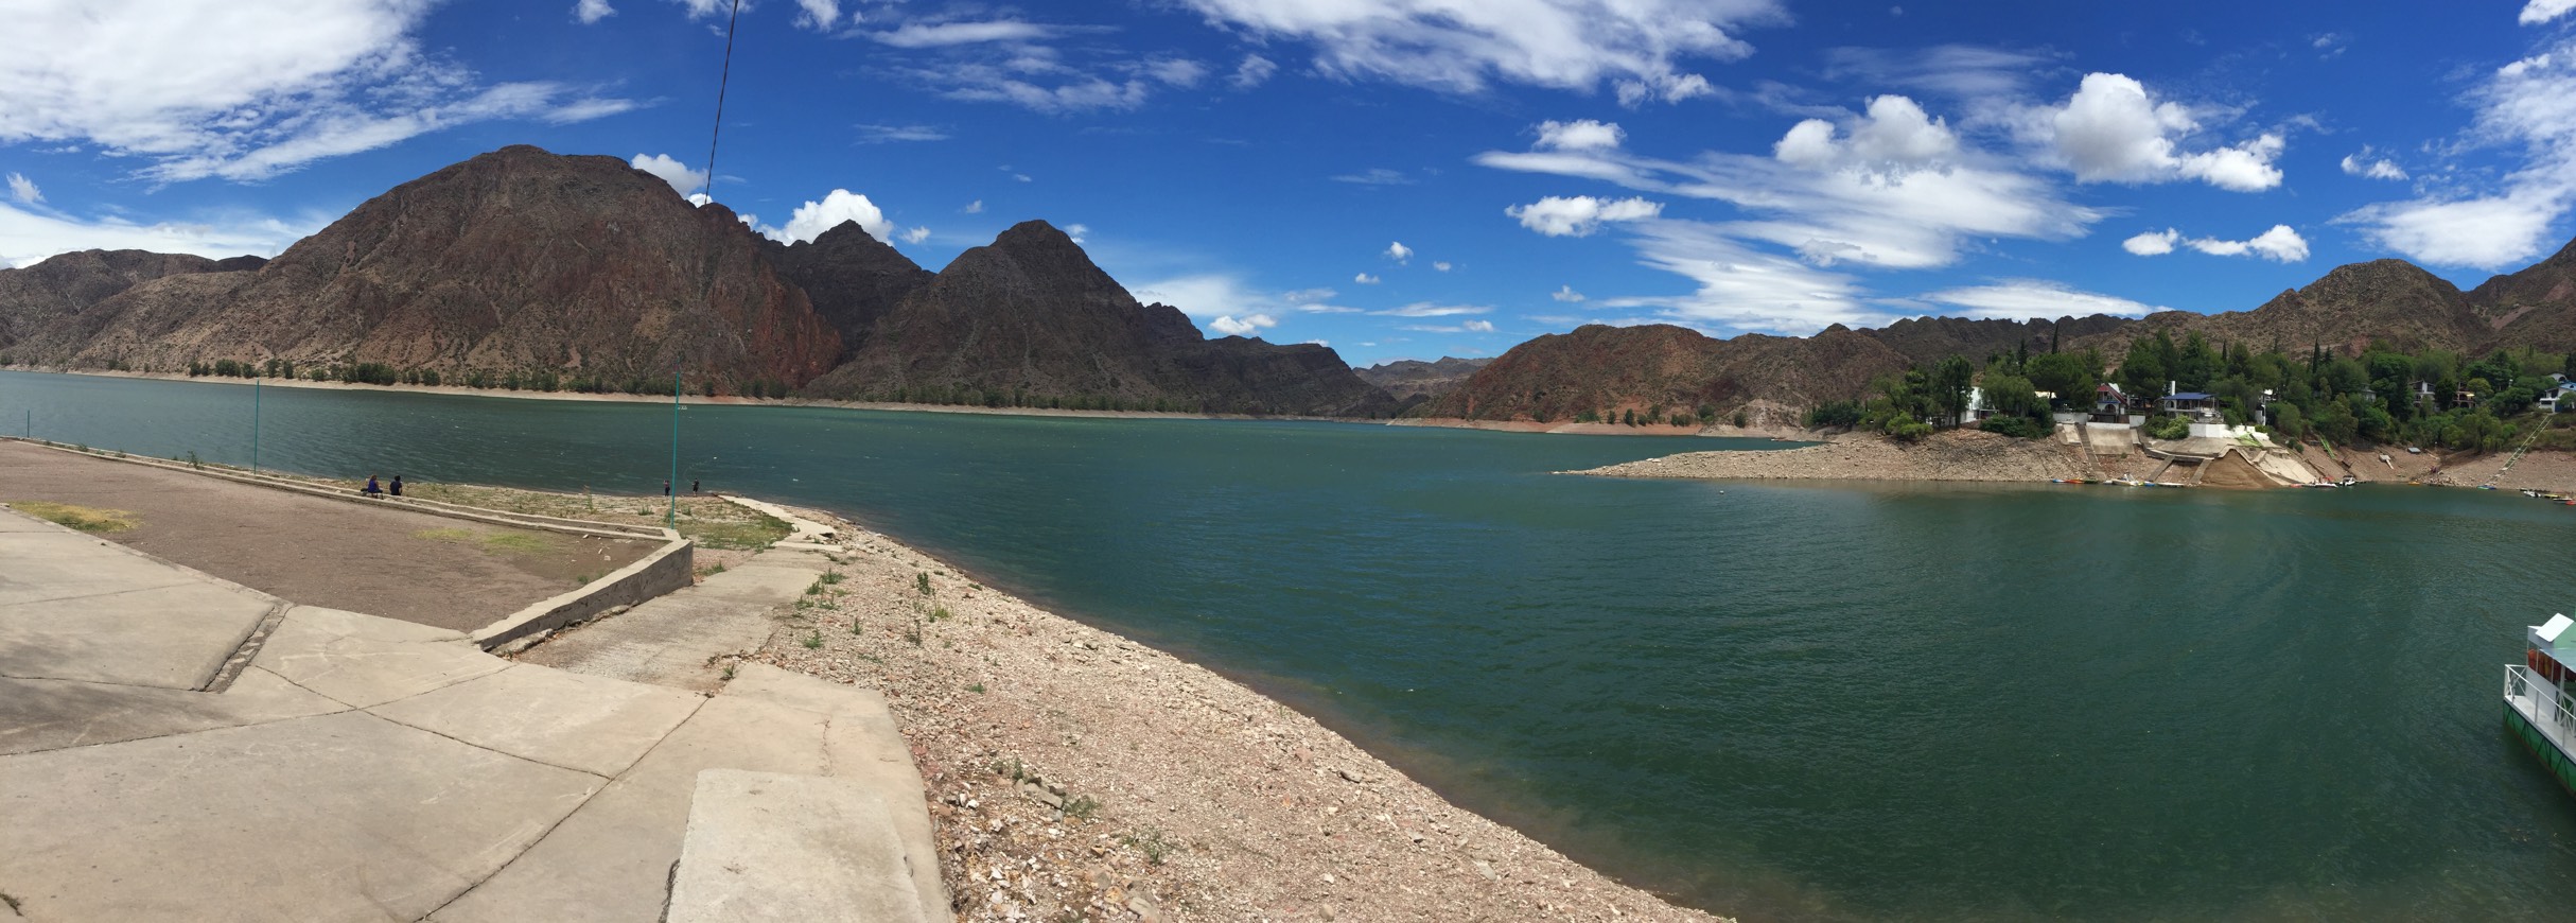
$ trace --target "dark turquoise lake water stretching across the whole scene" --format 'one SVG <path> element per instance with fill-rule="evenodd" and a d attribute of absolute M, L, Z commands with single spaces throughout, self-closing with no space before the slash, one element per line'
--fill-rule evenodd
<path fill-rule="evenodd" d="M 28 413 L 250 459 L 247 387 L 0 371 L 0 431 Z M 670 425 L 263 389 L 260 464 L 659 492 Z M 1747 920 L 2566 915 L 2576 797 L 2499 688 L 2576 608 L 2576 508 L 1548 474 L 1726 446 L 688 407 L 680 480 L 860 518 Z"/>

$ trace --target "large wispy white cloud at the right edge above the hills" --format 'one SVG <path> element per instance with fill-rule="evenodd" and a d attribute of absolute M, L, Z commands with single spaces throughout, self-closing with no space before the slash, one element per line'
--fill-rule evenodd
<path fill-rule="evenodd" d="M 2553 227 L 2576 204 L 2576 41 L 2496 67 L 2468 101 L 2478 116 L 2460 150 L 2522 147 L 2519 170 L 2486 188 L 2370 204 L 2336 222 L 2437 266 L 2504 268 L 2553 248 Z"/>

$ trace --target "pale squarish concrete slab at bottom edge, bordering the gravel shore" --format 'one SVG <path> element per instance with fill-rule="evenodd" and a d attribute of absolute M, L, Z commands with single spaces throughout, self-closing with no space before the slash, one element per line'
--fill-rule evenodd
<path fill-rule="evenodd" d="M 819 776 L 708 768 L 688 810 L 670 923 L 925 923 L 876 794 Z"/>

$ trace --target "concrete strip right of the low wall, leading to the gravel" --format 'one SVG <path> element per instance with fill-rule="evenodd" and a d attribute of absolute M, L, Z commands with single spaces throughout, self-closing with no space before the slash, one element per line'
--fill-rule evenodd
<path fill-rule="evenodd" d="M 654 598 L 626 614 L 556 634 L 520 655 L 523 663 L 621 681 L 716 691 L 711 663 L 760 650 L 778 632 L 773 608 L 804 596 L 814 578 L 835 567 L 829 557 L 768 549 L 693 588 Z"/>

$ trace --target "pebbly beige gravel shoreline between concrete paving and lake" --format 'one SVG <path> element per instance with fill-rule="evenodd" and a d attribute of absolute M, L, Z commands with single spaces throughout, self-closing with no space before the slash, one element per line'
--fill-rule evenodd
<path fill-rule="evenodd" d="M 1242 683 L 799 516 L 845 565 L 752 660 L 886 694 L 961 920 L 1716 920 Z"/>

